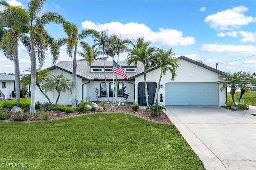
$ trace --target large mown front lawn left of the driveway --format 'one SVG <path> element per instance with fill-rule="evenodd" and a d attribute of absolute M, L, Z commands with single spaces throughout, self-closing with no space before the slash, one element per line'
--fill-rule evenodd
<path fill-rule="evenodd" d="M 122 113 L 0 123 L 0 163 L 26 169 L 205 169 L 173 125 Z"/>

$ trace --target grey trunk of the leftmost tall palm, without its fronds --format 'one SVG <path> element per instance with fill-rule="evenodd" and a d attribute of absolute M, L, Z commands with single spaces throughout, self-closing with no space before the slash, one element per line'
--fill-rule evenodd
<path fill-rule="evenodd" d="M 16 103 L 20 104 L 20 65 L 18 57 L 18 47 L 14 51 L 14 65 L 15 65 L 15 91 L 16 91 Z"/>

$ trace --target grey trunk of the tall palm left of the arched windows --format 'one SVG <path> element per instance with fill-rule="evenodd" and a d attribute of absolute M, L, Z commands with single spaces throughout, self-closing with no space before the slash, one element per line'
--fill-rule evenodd
<path fill-rule="evenodd" d="M 77 45 L 74 50 L 74 57 L 73 57 L 73 73 L 72 73 L 72 108 L 76 108 L 76 68 L 77 68 L 77 62 L 76 62 L 76 51 L 77 51 Z"/>

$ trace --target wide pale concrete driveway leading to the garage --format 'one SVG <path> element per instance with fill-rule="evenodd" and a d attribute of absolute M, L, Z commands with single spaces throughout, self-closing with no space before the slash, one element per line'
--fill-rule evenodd
<path fill-rule="evenodd" d="M 256 170 L 256 107 L 167 106 L 164 111 L 207 170 Z"/>

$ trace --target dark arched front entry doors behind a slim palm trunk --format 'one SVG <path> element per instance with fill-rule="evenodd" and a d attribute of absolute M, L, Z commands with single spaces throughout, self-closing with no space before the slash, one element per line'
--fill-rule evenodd
<path fill-rule="evenodd" d="M 148 104 L 152 105 L 154 102 L 154 97 L 156 93 L 156 82 L 147 82 L 148 87 Z M 146 96 L 145 96 L 145 83 L 138 83 L 138 105 L 146 106 Z"/>

